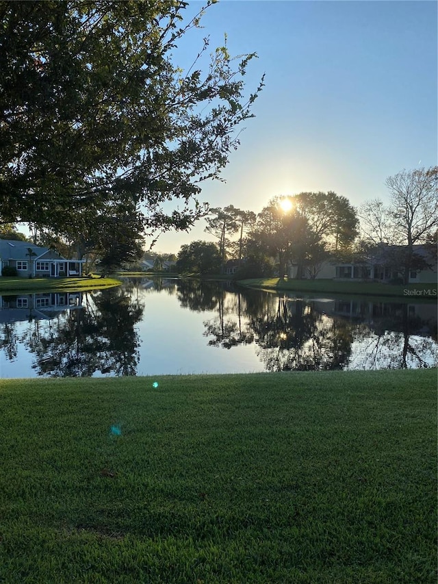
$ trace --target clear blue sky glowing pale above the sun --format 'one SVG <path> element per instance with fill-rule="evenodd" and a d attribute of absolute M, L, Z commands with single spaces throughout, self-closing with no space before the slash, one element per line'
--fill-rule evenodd
<path fill-rule="evenodd" d="M 266 73 L 227 182 L 205 183 L 202 201 L 257 213 L 274 195 L 333 190 L 359 206 L 387 199 L 389 175 L 437 164 L 435 1 L 221 0 L 201 23 L 175 64 L 227 33 L 231 55 L 257 52 L 248 89 Z M 155 250 L 212 240 L 204 227 L 166 233 Z"/>

